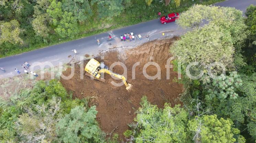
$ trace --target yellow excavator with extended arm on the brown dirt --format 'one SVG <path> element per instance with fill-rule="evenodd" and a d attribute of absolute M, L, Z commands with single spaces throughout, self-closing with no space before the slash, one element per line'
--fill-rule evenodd
<path fill-rule="evenodd" d="M 100 76 L 102 73 L 113 75 L 123 81 L 126 90 L 129 91 L 132 88 L 132 85 L 126 82 L 126 78 L 123 75 L 112 72 L 111 70 L 109 70 L 108 66 L 104 65 L 103 63 L 99 63 L 95 59 L 90 59 L 90 61 L 85 66 L 85 71 L 96 77 L 98 80 L 100 80 Z"/>

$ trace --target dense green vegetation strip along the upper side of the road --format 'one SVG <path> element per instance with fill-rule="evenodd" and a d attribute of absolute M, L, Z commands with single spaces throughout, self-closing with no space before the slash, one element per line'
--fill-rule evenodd
<path fill-rule="evenodd" d="M 78 39 L 222 0 L 3 0 L 0 57 Z"/>

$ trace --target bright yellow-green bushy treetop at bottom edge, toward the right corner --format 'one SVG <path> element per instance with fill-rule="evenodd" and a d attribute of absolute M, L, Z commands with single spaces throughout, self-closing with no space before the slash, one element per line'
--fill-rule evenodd
<path fill-rule="evenodd" d="M 235 134 L 240 131 L 232 127 L 230 119 L 218 119 L 216 115 L 203 115 L 188 121 L 188 130 L 191 132 L 190 139 L 202 143 L 234 143 Z M 243 138 L 243 137 L 240 137 Z M 240 141 L 244 141 L 240 139 Z"/>

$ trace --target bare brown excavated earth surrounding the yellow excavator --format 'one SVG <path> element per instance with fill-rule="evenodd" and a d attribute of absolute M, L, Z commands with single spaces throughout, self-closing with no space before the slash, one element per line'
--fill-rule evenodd
<path fill-rule="evenodd" d="M 170 80 L 166 79 L 166 61 L 171 56 L 169 55 L 169 47 L 177 40 L 177 37 L 172 39 L 157 40 L 137 46 L 133 49 L 123 49 L 119 51 L 107 52 L 104 55 L 105 65 L 110 66 L 113 62 L 123 62 L 127 67 L 127 82 L 133 85 L 132 91 L 128 92 L 125 86 L 115 87 L 110 82 L 113 81 L 110 75 L 105 74 L 105 82 L 91 80 L 90 77 L 84 76 L 80 79 L 80 66 L 75 66 L 75 76 L 70 80 L 63 80 L 64 87 L 73 91 L 74 97 L 85 98 L 91 97 L 93 103 L 97 105 L 97 120 L 103 131 L 112 134 L 118 133 L 123 137 L 123 132 L 129 127 L 127 124 L 132 123 L 136 116 L 135 111 L 140 106 L 142 96 L 147 96 L 152 104 L 156 104 L 162 108 L 165 102 L 172 105 L 180 103 L 179 94 L 182 92 L 182 85 L 172 82 L 177 73 L 170 69 Z M 153 57 L 150 58 L 150 57 Z M 151 60 L 152 59 L 152 60 Z M 148 80 L 144 77 L 143 66 L 149 62 L 158 63 L 161 68 L 161 80 Z M 134 63 L 140 62 L 136 67 L 136 80 L 132 80 L 132 66 Z M 86 65 L 84 62 L 84 66 Z M 121 66 L 115 66 L 113 71 L 119 74 L 123 73 Z M 146 72 L 150 76 L 157 73 L 155 66 L 149 66 Z M 63 74 L 70 75 L 71 69 L 67 69 Z M 120 80 L 114 80 L 116 83 Z M 118 127 L 115 129 L 115 127 Z"/>

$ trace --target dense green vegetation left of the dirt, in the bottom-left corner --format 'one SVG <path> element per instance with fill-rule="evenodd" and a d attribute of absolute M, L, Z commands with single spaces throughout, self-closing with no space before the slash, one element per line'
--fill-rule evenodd
<path fill-rule="evenodd" d="M 104 142 L 96 107 L 57 80 L 38 81 L 0 103 L 0 142 Z"/>

